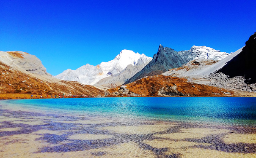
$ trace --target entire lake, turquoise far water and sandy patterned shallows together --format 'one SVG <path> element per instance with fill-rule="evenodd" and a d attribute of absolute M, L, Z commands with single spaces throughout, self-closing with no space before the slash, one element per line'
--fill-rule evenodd
<path fill-rule="evenodd" d="M 0 157 L 256 157 L 256 98 L 0 101 Z"/>

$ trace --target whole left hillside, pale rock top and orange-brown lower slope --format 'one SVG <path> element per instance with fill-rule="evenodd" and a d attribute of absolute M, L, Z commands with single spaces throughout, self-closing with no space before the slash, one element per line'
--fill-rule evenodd
<path fill-rule="evenodd" d="M 36 56 L 21 51 L 0 52 L 0 56 L 0 99 L 26 98 L 31 94 L 104 95 L 94 86 L 53 78 Z M 10 97 L 3 97 L 6 95 Z"/>

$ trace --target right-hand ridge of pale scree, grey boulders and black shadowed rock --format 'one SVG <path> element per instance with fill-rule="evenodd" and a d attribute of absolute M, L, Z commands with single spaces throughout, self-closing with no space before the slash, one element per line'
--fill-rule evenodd
<path fill-rule="evenodd" d="M 197 59 L 162 75 L 187 78 L 191 83 L 256 92 L 255 59 L 256 33 L 250 36 L 244 47 L 219 62 Z"/>

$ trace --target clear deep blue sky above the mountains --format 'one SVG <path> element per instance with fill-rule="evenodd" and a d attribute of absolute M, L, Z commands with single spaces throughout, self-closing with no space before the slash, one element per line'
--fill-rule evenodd
<path fill-rule="evenodd" d="M 0 0 L 0 51 L 36 55 L 58 75 L 159 44 L 234 52 L 256 32 L 255 0 Z"/>

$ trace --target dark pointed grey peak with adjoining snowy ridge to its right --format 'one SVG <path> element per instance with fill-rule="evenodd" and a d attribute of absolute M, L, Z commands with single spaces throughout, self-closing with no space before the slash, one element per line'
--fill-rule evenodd
<path fill-rule="evenodd" d="M 175 51 L 168 47 L 159 46 L 157 54 L 151 62 L 140 72 L 130 78 L 125 84 L 148 75 L 160 75 L 172 68 L 181 67 L 183 64 L 199 58 L 220 60 L 228 56 L 226 52 L 216 51 L 206 46 L 193 46 L 188 51 Z"/>

